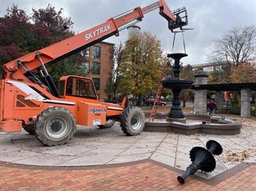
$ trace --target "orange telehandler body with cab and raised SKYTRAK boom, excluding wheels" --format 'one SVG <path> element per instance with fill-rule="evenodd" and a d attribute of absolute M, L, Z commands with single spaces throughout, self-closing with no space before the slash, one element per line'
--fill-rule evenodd
<path fill-rule="evenodd" d="M 65 107 L 72 112 L 77 124 L 85 126 L 103 125 L 106 118 L 121 116 L 125 100 L 121 105 L 100 102 L 94 83 L 87 77 L 61 77 L 57 89 L 46 67 L 108 37 L 119 35 L 119 31 L 141 21 L 144 14 L 156 8 L 169 22 L 171 31 L 186 24 L 181 22 L 179 25 L 175 14 L 164 0 L 160 0 L 143 8 L 136 7 L 92 29 L 3 65 L 5 78 L 0 81 L 0 131 L 16 132 L 21 131 L 24 124 L 34 125 L 38 115 L 49 107 Z M 186 12 L 184 7 L 175 13 L 182 12 Z"/>

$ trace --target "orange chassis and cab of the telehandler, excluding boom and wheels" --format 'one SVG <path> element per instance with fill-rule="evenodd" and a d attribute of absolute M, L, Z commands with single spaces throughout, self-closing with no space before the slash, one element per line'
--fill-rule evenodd
<path fill-rule="evenodd" d="M 65 79 L 66 80 L 63 80 Z M 61 82 L 83 84 L 90 86 L 93 95 L 83 94 L 85 87 L 75 87 L 74 94 L 68 94 L 66 89 L 61 94 L 62 98 L 53 96 L 50 92 L 29 82 L 18 82 L 14 80 L 1 80 L 1 123 L 0 130 L 5 132 L 18 132 L 22 129 L 22 123 L 34 124 L 37 116 L 48 107 L 61 106 L 70 110 L 79 125 L 103 125 L 106 116 L 118 116 L 124 110 L 121 105 L 113 103 L 102 103 L 98 101 L 94 84 L 86 77 L 67 76 L 62 77 Z M 77 81 L 77 82 L 75 82 Z M 81 94 L 76 89 L 81 88 Z M 61 92 L 61 91 L 60 91 Z M 3 103 L 4 100 L 4 103 Z"/>

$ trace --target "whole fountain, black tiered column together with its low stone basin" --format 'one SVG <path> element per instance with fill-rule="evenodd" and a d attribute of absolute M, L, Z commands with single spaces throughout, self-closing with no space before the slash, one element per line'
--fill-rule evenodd
<path fill-rule="evenodd" d="M 167 55 L 173 58 L 173 77 L 168 75 L 162 80 L 162 86 L 173 91 L 173 102 L 169 113 L 156 113 L 156 118 L 166 119 L 145 122 L 143 131 L 153 132 L 174 132 L 183 135 L 194 135 L 204 133 L 212 135 L 237 135 L 240 133 L 242 124 L 234 119 L 209 116 L 205 114 L 183 114 L 180 106 L 180 92 L 183 89 L 191 88 L 192 81 L 180 80 L 180 59 L 188 56 L 184 53 L 173 53 Z M 198 103 L 194 103 L 198 104 Z M 195 106 L 194 106 L 195 107 Z M 150 112 L 144 112 L 146 117 Z M 185 118 L 186 117 L 186 118 Z M 197 122 L 186 123 L 186 120 L 196 120 Z"/>

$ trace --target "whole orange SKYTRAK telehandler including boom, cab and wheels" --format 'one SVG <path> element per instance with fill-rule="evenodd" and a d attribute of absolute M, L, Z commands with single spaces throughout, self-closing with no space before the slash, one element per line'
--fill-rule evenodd
<path fill-rule="evenodd" d="M 63 76 L 57 88 L 46 67 L 108 37 L 118 36 L 119 31 L 141 21 L 144 14 L 156 8 L 167 19 L 172 32 L 188 24 L 185 7 L 171 12 L 165 1 L 160 0 L 3 65 L 0 131 L 20 132 L 24 128 L 48 146 L 67 143 L 76 132 L 76 124 L 110 126 L 119 120 L 126 135 L 141 133 L 145 116 L 139 107 L 125 108 L 126 99 L 121 105 L 100 102 L 88 77 Z"/>

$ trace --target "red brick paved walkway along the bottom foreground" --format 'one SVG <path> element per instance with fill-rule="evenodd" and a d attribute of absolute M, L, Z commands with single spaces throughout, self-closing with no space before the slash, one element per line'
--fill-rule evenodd
<path fill-rule="evenodd" d="M 94 167 L 35 167 L 0 161 L 0 190 L 256 190 L 255 164 L 240 164 L 212 179 L 142 160 Z"/>

